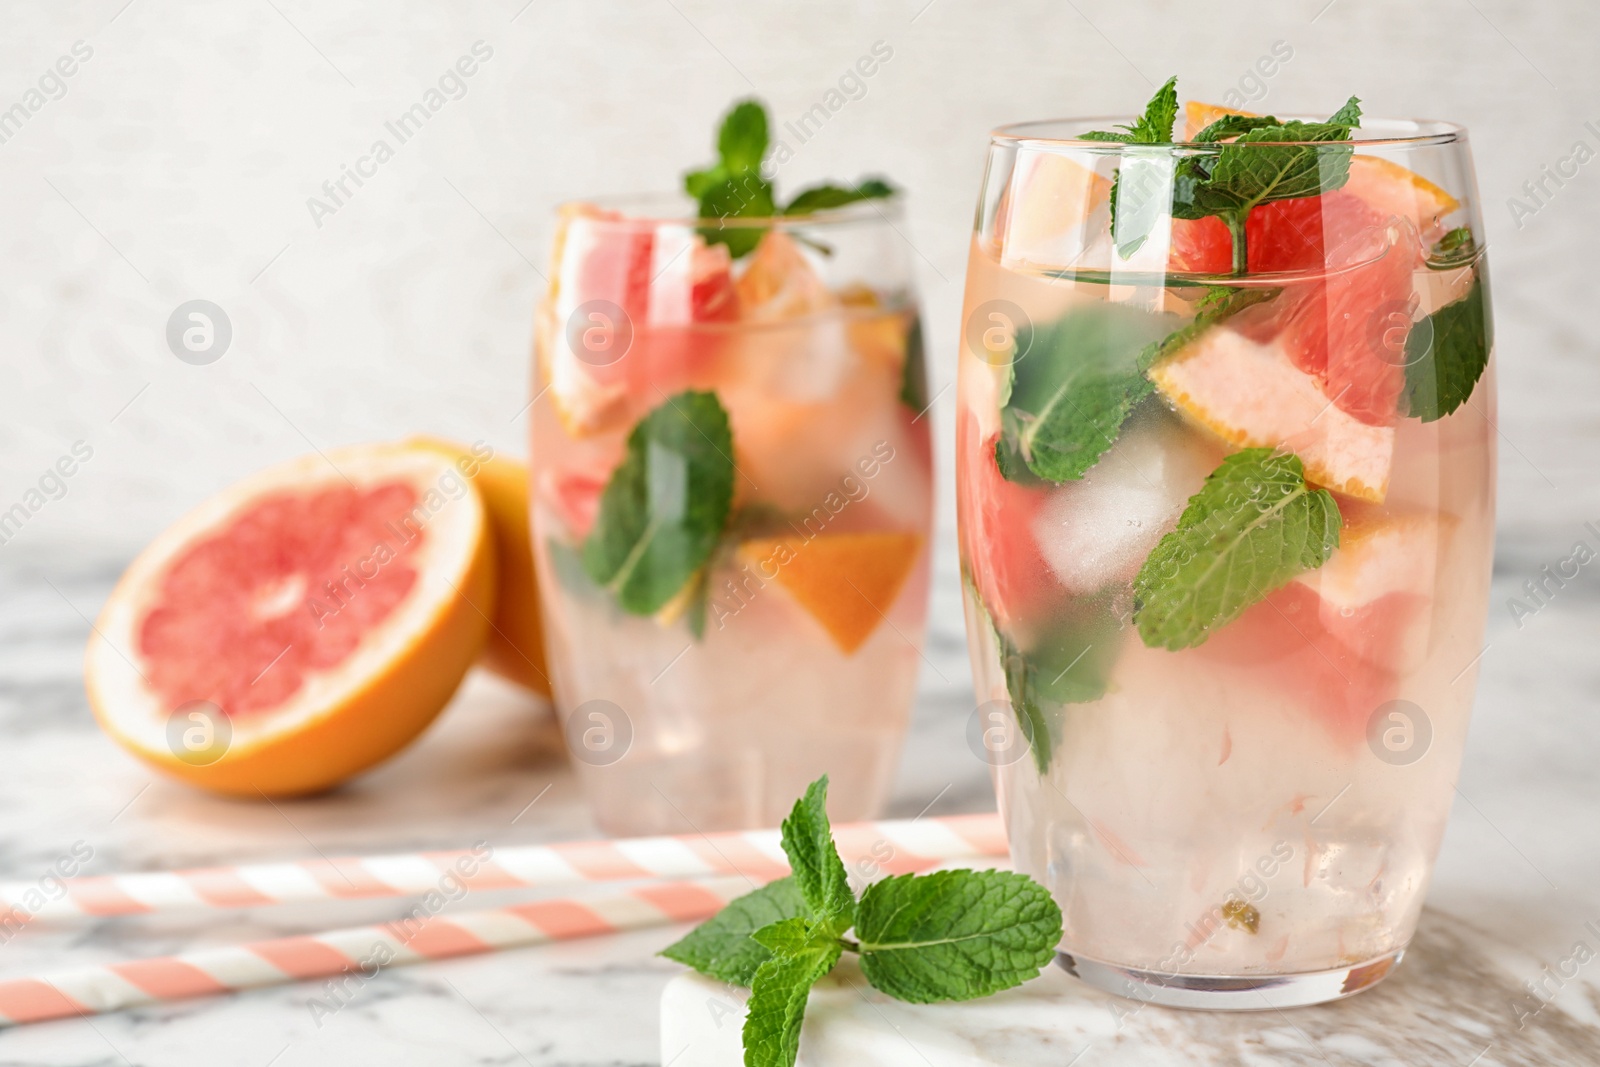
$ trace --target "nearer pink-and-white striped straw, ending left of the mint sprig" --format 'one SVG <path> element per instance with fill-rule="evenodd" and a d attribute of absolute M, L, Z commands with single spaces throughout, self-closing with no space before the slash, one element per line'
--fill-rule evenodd
<path fill-rule="evenodd" d="M 696 921 L 749 889 L 744 878 L 667 881 L 592 901 L 536 901 L 19 977 L 0 982 L 0 1025 L 341 974 L 355 981 L 382 966 Z"/>

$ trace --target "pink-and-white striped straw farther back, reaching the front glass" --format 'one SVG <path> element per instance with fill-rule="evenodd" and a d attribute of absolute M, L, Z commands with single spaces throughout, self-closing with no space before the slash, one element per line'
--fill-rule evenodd
<path fill-rule="evenodd" d="M 866 862 L 886 873 L 1006 853 L 1005 830 L 995 814 L 856 822 L 837 827 L 834 838 L 846 864 Z M 35 883 L 3 883 L 0 925 L 14 929 L 42 918 L 421 896 L 440 889 L 448 878 L 469 889 L 501 889 L 717 875 L 770 881 L 786 873 L 789 862 L 778 830 L 509 848 L 485 845 L 461 851 L 66 878 L 66 893 L 45 901 Z"/>

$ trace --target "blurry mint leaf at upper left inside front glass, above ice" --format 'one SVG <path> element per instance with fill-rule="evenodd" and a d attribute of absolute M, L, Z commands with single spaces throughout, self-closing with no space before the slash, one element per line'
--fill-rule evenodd
<path fill-rule="evenodd" d="M 1011 482 L 1082 478 L 1152 386 L 1139 354 L 1171 331 L 1170 315 L 1094 302 L 1013 339 L 1010 395 L 995 459 Z"/>

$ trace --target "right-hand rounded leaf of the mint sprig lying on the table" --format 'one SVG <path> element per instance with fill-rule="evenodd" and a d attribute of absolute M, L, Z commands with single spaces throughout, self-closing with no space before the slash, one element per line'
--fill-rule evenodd
<path fill-rule="evenodd" d="M 941 870 L 875 881 L 856 912 L 861 971 L 915 1005 L 987 997 L 1037 977 L 1056 955 L 1061 909 L 1006 870 Z"/>

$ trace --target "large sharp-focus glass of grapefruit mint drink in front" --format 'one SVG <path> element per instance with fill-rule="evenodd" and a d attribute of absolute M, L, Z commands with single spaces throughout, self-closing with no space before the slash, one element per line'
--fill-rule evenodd
<path fill-rule="evenodd" d="M 1480 234 L 1466 133 L 1354 99 L 1179 114 L 1168 83 L 992 136 L 966 625 L 1013 859 L 1085 981 L 1259 1009 L 1400 960 L 1486 614 Z"/>

